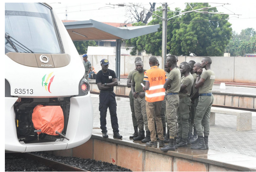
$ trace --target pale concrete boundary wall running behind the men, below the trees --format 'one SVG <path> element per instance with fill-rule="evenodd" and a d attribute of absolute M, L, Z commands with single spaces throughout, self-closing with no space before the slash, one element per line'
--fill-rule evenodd
<path fill-rule="evenodd" d="M 82 55 L 81 60 L 82 60 Z M 129 72 L 135 68 L 134 59 L 141 57 L 144 64 L 144 69 L 150 69 L 149 57 L 150 56 L 121 56 L 120 75 L 128 76 Z M 156 56 L 159 60 L 160 68 L 163 69 L 162 57 Z M 109 60 L 109 69 L 115 71 L 116 56 L 100 56 L 100 55 L 88 55 L 88 60 L 92 63 L 92 66 L 96 71 L 101 70 L 100 60 Z M 215 72 L 215 81 L 220 82 L 240 82 L 240 83 L 256 83 L 256 58 L 254 57 L 210 57 L 212 59 L 211 68 Z M 194 60 L 201 63 L 203 57 L 191 57 L 191 56 L 179 56 L 178 65 L 181 62 L 189 62 Z"/>

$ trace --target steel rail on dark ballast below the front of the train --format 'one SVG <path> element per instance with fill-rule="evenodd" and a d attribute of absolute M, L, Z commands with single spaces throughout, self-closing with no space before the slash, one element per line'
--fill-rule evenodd
<path fill-rule="evenodd" d="M 50 160 L 50 159 L 47 159 L 47 158 L 44 158 L 41 156 L 37 156 L 37 155 L 31 154 L 31 153 L 15 153 L 15 156 L 25 158 L 25 159 L 35 160 L 43 165 L 46 165 L 47 167 L 50 167 L 52 169 L 59 169 L 60 171 L 86 171 L 81 168 L 77 168 L 77 167 L 74 167 L 71 165 L 66 165 L 64 163 Z"/>

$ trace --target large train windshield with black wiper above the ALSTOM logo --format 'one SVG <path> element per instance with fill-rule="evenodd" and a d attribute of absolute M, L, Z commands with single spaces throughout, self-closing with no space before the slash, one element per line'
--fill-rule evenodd
<path fill-rule="evenodd" d="M 40 3 L 5 3 L 5 53 L 63 53 L 51 9 Z"/>

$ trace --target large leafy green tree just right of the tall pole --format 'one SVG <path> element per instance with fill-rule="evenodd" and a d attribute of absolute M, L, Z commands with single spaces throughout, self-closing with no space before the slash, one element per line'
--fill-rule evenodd
<path fill-rule="evenodd" d="M 194 10 L 210 7 L 208 3 L 190 3 Z M 184 12 L 190 11 L 187 4 Z M 218 12 L 210 8 L 208 12 Z M 175 29 L 171 40 L 171 53 L 176 55 L 222 56 L 231 38 L 231 24 L 226 20 L 228 15 L 185 13 L 178 18 L 180 28 Z M 179 40 L 177 42 L 176 40 Z M 180 48 L 177 44 L 181 44 Z"/>

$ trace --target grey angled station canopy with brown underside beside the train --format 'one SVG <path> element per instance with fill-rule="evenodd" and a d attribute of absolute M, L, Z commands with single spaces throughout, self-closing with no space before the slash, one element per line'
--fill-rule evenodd
<path fill-rule="evenodd" d="M 157 32 L 159 25 L 114 27 L 95 20 L 64 22 L 72 41 L 128 40 Z"/>

